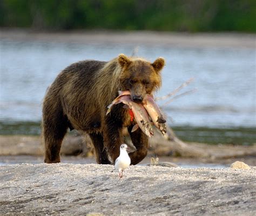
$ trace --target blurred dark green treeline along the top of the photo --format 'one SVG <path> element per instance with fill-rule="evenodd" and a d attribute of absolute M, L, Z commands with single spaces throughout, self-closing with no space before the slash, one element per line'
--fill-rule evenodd
<path fill-rule="evenodd" d="M 256 32 L 255 0 L 0 0 L 0 26 Z"/>

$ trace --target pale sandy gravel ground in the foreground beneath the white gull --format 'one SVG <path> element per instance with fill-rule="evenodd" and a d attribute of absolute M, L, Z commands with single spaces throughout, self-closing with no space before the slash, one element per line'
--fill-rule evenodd
<path fill-rule="evenodd" d="M 255 215 L 256 167 L 0 166 L 3 215 Z"/>

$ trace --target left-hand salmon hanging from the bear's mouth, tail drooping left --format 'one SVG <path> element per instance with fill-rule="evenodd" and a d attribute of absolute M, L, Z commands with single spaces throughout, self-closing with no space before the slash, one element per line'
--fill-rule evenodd
<path fill-rule="evenodd" d="M 132 102 L 130 95 L 122 95 L 122 93 L 120 93 L 120 95 L 116 99 L 114 99 L 109 106 L 107 106 L 109 110 L 107 110 L 106 115 L 109 114 L 113 105 L 119 104 L 119 103 L 125 104 L 126 105 L 125 108 L 128 108 L 133 112 L 134 119 L 136 120 L 137 124 L 133 126 L 132 132 L 136 131 L 138 127 L 140 127 L 140 129 L 148 137 L 151 138 L 154 135 L 154 132 L 151 126 L 149 115 L 147 114 L 147 111 L 145 110 L 142 104 L 137 104 Z"/>

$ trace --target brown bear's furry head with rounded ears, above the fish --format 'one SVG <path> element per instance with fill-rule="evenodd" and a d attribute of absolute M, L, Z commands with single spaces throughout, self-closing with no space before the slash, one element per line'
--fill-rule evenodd
<path fill-rule="evenodd" d="M 142 58 L 120 54 L 117 60 L 122 68 L 121 90 L 130 90 L 133 102 L 142 103 L 146 94 L 151 94 L 161 86 L 160 71 L 165 64 L 164 58 L 159 57 L 150 63 Z"/>

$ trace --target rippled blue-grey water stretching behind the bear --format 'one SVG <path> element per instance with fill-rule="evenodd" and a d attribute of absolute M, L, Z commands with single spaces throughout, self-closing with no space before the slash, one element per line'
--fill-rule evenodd
<path fill-rule="evenodd" d="M 14 133 L 12 130 L 19 133 L 19 124 L 23 127 L 29 124 L 32 125 L 31 130 L 37 130 L 45 90 L 66 66 L 83 59 L 110 60 L 119 53 L 131 55 L 135 46 L 2 39 L 1 133 Z M 162 71 L 163 87 L 157 96 L 164 96 L 189 78 L 194 78 L 179 93 L 197 88 L 196 92 L 163 107 L 168 123 L 174 128 L 184 129 L 181 133 L 186 137 L 190 129 L 207 129 L 207 132 L 212 128 L 224 130 L 221 134 L 229 130 L 230 135 L 227 136 L 230 137 L 248 137 L 249 143 L 256 139 L 254 48 L 142 45 L 137 55 L 151 61 L 159 56 L 166 59 Z M 165 102 L 158 103 L 163 105 Z M 206 132 L 203 131 L 202 136 Z"/>

